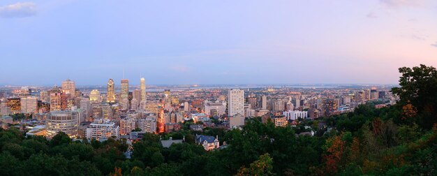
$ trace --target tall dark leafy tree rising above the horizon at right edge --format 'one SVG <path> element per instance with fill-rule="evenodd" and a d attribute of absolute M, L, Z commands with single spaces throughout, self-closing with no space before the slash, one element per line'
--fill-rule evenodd
<path fill-rule="evenodd" d="M 401 105 L 408 105 L 406 110 L 417 108 L 417 124 L 424 129 L 431 129 L 437 123 L 437 70 L 432 66 L 415 66 L 399 68 L 402 76 L 401 87 L 394 87 L 392 92 L 399 96 Z"/>

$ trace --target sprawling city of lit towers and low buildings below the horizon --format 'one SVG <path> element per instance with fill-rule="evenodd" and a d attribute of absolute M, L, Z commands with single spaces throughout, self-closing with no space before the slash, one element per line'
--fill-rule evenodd
<path fill-rule="evenodd" d="M 132 82 L 140 84 L 129 85 Z M 299 119 L 353 112 L 363 103 L 383 108 L 397 101 L 390 93 L 394 85 L 147 86 L 145 78 L 109 79 L 105 87 L 76 86 L 69 79 L 60 83 L 1 87 L 2 128 L 27 128 L 27 135 L 47 138 L 62 131 L 75 139 L 134 141 L 143 133 L 178 131 L 185 122 L 193 122 L 190 129 L 195 131 L 241 128 L 252 117 L 295 126 Z M 24 118 L 14 119 L 14 114 Z M 220 147 L 214 136 L 205 138 L 212 139 L 205 150 Z"/>

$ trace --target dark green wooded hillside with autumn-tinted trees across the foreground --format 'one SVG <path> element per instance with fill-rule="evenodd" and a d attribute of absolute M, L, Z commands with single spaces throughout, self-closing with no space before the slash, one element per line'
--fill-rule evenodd
<path fill-rule="evenodd" d="M 275 127 L 260 118 L 240 129 L 182 129 L 125 140 L 47 140 L 18 129 L 0 131 L 1 175 L 437 175 L 437 71 L 399 68 L 396 105 L 364 104 L 342 115 Z M 311 126 L 314 136 L 296 135 Z M 228 147 L 206 152 L 194 136 L 218 135 Z M 161 138 L 186 138 L 169 148 Z"/>

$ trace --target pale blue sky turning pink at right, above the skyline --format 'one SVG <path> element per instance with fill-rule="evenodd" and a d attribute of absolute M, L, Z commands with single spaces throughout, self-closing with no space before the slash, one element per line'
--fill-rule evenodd
<path fill-rule="evenodd" d="M 419 64 L 435 0 L 0 1 L 0 85 L 394 84 Z"/>

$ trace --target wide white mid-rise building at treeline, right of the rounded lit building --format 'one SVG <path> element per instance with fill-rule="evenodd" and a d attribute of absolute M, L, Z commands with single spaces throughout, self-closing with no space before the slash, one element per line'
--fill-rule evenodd
<path fill-rule="evenodd" d="M 120 127 L 108 119 L 96 119 L 87 127 L 87 139 L 105 140 L 120 137 Z"/>

